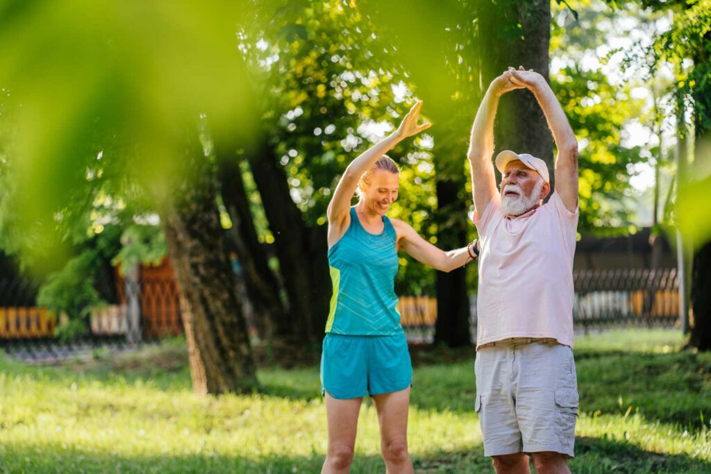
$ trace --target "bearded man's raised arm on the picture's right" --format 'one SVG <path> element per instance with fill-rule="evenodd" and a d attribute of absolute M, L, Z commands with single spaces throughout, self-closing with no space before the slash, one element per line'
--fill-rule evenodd
<path fill-rule="evenodd" d="M 578 200 L 577 140 L 565 112 L 545 78 L 532 70 L 509 69 L 511 82 L 533 92 L 553 132 L 558 155 L 555 158 L 555 192 L 565 208 L 574 212 Z"/>

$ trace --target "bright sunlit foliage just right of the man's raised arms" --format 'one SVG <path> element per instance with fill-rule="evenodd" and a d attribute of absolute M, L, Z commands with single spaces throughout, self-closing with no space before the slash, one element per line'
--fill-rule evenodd
<path fill-rule="evenodd" d="M 600 1 L 577 4 L 578 20 L 570 21 L 564 6 L 554 11 L 551 33 L 551 85 L 570 120 L 579 141 L 578 231 L 597 235 L 635 232 L 634 190 L 630 177 L 638 163 L 658 156 L 653 143 L 629 146 L 627 127 L 647 126 L 648 105 L 635 98 L 635 87 L 648 88 L 640 74 L 624 74 L 618 68 L 609 77 L 611 63 L 630 50 L 644 48 L 643 35 L 630 38 L 631 47 L 609 49 L 613 36 L 623 36 L 619 28 L 634 21 L 637 29 L 654 24 L 656 17 L 626 6 L 625 11 L 609 9 Z M 658 15 L 657 15 L 658 16 Z M 623 63 L 624 65 L 624 63 Z M 638 67 L 638 64 L 635 65 Z M 631 66 L 628 66 L 630 69 Z"/>

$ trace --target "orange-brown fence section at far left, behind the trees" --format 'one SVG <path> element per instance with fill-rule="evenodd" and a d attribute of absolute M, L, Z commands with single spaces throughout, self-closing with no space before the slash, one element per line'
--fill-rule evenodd
<path fill-rule="evenodd" d="M 134 271 L 117 275 L 114 301 L 90 308 L 80 328 L 63 331 L 69 316 L 36 306 L 38 285 L 0 279 L 0 348 L 23 360 L 60 360 L 98 348 L 121 350 L 183 333 L 172 277 Z"/>

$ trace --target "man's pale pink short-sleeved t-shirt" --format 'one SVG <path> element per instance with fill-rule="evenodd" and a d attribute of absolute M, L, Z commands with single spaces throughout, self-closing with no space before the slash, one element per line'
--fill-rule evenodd
<path fill-rule="evenodd" d="M 573 345 L 573 254 L 578 212 L 558 193 L 518 217 L 496 194 L 474 220 L 479 231 L 476 347 L 507 338 Z"/>

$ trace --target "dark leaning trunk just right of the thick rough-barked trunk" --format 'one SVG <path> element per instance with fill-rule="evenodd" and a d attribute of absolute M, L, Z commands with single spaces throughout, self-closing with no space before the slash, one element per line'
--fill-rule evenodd
<path fill-rule="evenodd" d="M 269 269 L 267 256 L 257 239 L 239 163 L 230 147 L 223 148 L 216 141 L 215 156 L 223 203 L 232 220 L 228 236 L 242 265 L 247 298 L 258 320 L 255 321 L 257 331 L 263 340 L 287 338 L 293 332 L 293 326 L 287 323 L 277 278 Z"/>

